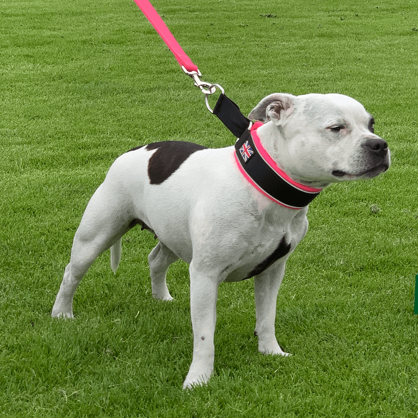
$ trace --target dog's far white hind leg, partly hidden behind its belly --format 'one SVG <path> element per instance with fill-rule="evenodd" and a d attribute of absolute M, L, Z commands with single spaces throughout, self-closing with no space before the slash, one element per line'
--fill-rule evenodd
<path fill-rule="evenodd" d="M 161 241 L 150 252 L 148 263 L 150 264 L 151 286 L 155 299 L 173 300 L 167 288 L 166 274 L 170 264 L 176 260 L 178 260 L 178 256 Z"/>

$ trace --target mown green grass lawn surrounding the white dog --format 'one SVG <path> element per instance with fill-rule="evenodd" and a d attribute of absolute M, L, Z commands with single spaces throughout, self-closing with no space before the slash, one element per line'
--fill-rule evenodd
<path fill-rule="evenodd" d="M 169 271 L 175 301 L 155 302 L 150 233 L 125 236 L 116 276 L 109 253 L 99 257 L 75 321 L 50 312 L 83 210 L 118 155 L 234 138 L 135 3 L 4 0 L 0 415 L 418 417 L 416 2 L 153 3 L 202 78 L 244 113 L 271 92 L 350 95 L 375 116 L 393 165 L 310 205 L 278 296 L 276 333 L 293 356 L 257 352 L 252 282 L 224 284 L 215 375 L 184 392 L 188 266 Z"/>

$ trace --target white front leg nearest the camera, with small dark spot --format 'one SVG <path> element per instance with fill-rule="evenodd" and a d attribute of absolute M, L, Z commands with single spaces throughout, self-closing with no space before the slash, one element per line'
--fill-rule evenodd
<path fill-rule="evenodd" d="M 215 357 L 214 333 L 218 277 L 199 271 L 190 264 L 190 310 L 193 327 L 193 360 L 183 389 L 203 385 L 213 372 Z"/>

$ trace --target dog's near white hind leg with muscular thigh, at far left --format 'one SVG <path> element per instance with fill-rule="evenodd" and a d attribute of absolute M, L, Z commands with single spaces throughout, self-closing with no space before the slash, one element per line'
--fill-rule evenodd
<path fill-rule="evenodd" d="M 71 259 L 65 268 L 52 316 L 73 318 L 73 297 L 84 274 L 103 251 L 117 243 L 132 227 L 124 205 L 105 183 L 94 192 L 75 233 Z"/>

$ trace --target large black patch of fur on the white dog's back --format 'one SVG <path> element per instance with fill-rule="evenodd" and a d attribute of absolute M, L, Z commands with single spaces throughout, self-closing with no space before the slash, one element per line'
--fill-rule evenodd
<path fill-rule="evenodd" d="M 157 150 L 148 161 L 150 184 L 161 185 L 191 154 L 206 148 L 207 146 L 184 141 L 162 141 L 148 144 L 146 149 Z"/>

